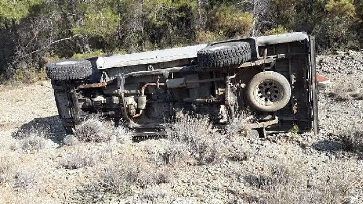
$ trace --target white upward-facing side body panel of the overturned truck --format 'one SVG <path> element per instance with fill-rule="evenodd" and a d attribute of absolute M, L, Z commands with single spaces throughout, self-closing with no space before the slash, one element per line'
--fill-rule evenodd
<path fill-rule="evenodd" d="M 249 37 L 249 39 L 254 39 L 256 42 L 256 46 L 265 46 L 269 44 L 301 41 L 305 39 L 308 40 L 309 38 L 305 32 L 295 32 L 261 37 Z M 208 44 L 198 44 L 195 46 L 170 48 L 126 55 L 109 55 L 98 57 L 96 63 L 98 69 L 110 69 L 114 67 L 135 66 L 142 64 L 162 63 L 179 59 L 196 58 L 197 52 L 200 49 L 205 48 L 206 46 L 208 46 Z"/>

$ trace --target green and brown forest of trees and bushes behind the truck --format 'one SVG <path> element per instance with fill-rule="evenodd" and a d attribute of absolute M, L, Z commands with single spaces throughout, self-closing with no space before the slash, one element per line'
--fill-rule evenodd
<path fill-rule="evenodd" d="M 317 51 L 358 50 L 363 0 L 0 0 L 0 83 L 47 62 L 305 31 Z"/>

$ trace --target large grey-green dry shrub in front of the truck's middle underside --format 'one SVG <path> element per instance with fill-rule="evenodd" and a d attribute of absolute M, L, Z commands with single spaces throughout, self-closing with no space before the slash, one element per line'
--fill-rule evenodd
<path fill-rule="evenodd" d="M 186 116 L 171 123 L 167 129 L 170 145 L 166 149 L 165 160 L 178 162 L 181 158 L 193 156 L 200 163 L 215 163 L 225 155 L 224 135 L 213 130 L 206 116 Z"/>

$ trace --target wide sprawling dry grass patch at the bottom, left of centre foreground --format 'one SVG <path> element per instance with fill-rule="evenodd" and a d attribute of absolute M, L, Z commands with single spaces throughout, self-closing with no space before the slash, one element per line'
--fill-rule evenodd
<path fill-rule="evenodd" d="M 124 151 L 117 160 L 108 164 L 90 185 L 75 193 L 73 200 L 104 203 L 108 197 L 125 198 L 132 195 L 135 187 L 144 188 L 169 182 L 170 170 L 149 164 L 131 152 L 134 151 Z"/>

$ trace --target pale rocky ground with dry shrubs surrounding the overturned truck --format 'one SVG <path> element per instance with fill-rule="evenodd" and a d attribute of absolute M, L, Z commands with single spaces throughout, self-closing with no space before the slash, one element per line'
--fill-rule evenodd
<path fill-rule="evenodd" d="M 363 203 L 362 156 L 340 138 L 363 125 L 363 55 L 317 63 L 331 81 L 319 92 L 319 135 L 250 132 L 229 138 L 236 146 L 210 144 L 232 154 L 203 165 L 165 164 L 164 139 L 64 145 L 49 82 L 3 90 L 0 203 Z"/>

